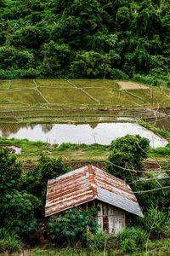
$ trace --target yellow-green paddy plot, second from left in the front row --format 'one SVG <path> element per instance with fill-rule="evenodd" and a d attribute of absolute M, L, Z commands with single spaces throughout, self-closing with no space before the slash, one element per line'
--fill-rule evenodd
<path fill-rule="evenodd" d="M 68 105 L 94 104 L 94 101 L 82 93 L 82 90 L 75 88 L 48 89 L 41 87 L 39 90 L 50 103 Z"/>

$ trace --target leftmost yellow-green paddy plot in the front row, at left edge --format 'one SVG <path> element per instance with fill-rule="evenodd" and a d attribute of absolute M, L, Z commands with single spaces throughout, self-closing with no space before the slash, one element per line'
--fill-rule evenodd
<path fill-rule="evenodd" d="M 3 90 L 0 93 L 0 102 L 19 102 L 26 104 L 45 103 L 36 90 Z"/>

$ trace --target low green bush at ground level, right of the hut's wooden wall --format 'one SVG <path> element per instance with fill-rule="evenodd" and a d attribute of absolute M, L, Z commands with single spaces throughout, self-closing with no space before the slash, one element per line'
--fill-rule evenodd
<path fill-rule="evenodd" d="M 137 247 L 144 247 L 147 233 L 139 227 L 125 228 L 116 235 L 116 240 L 124 253 L 133 253 Z"/>

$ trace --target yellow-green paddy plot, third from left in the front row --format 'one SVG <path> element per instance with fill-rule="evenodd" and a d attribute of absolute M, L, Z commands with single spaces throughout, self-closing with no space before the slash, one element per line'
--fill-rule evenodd
<path fill-rule="evenodd" d="M 136 106 L 141 105 L 143 102 L 140 102 L 139 99 L 127 95 L 122 90 L 103 90 L 103 89 L 85 89 L 90 96 L 93 96 L 97 99 L 100 104 L 107 106 Z"/>

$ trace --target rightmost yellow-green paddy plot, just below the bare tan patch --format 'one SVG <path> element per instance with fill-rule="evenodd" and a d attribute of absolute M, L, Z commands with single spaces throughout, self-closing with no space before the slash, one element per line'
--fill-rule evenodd
<path fill-rule="evenodd" d="M 153 106 L 167 107 L 170 106 L 170 91 L 164 89 L 139 89 L 127 90 L 130 94 L 138 96 L 149 102 Z"/>

